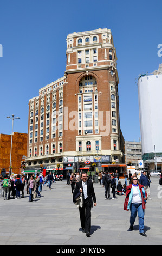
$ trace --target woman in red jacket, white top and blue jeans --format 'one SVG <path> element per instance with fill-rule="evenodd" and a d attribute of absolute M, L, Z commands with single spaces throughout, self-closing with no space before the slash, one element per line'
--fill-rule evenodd
<path fill-rule="evenodd" d="M 139 233 L 142 236 L 147 236 L 144 232 L 144 215 L 147 193 L 144 186 L 139 184 L 137 177 L 133 176 L 131 184 L 127 186 L 126 198 L 124 202 L 124 210 L 131 210 L 130 229 L 133 230 L 133 225 L 138 212 Z"/>

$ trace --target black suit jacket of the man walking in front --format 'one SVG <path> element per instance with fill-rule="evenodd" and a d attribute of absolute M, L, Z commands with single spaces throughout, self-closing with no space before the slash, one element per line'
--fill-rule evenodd
<path fill-rule="evenodd" d="M 80 190 L 80 188 L 82 188 L 82 196 L 84 199 L 82 180 L 76 183 L 75 190 Z M 90 206 L 93 207 L 93 202 L 96 203 L 96 197 L 95 197 L 95 193 L 94 193 L 93 183 L 92 183 L 92 181 L 89 181 L 88 179 L 87 179 L 87 195 L 88 195 L 88 200 L 89 200 Z M 93 198 L 93 201 L 92 201 L 92 198 Z"/>

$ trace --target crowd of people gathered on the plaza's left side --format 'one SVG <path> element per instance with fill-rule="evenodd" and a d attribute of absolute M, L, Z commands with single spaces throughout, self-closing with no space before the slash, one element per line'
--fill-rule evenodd
<path fill-rule="evenodd" d="M 32 175 L 5 175 L 0 176 L 0 198 L 4 200 L 10 199 L 20 199 L 24 198 L 24 188 L 26 187 L 26 192 L 29 194 L 29 202 L 32 202 L 36 197 L 41 197 L 42 186 L 46 184 L 51 190 L 52 182 L 55 181 L 55 174 L 49 173 L 46 177 L 43 174 L 32 174 Z"/>

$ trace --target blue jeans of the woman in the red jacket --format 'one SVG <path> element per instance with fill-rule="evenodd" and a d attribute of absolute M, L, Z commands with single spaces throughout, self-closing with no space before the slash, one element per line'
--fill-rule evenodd
<path fill-rule="evenodd" d="M 131 204 L 131 217 L 130 217 L 130 224 L 133 226 L 135 222 L 135 218 L 138 212 L 138 222 L 139 222 L 139 233 L 144 232 L 144 215 L 145 210 L 142 207 L 142 204 Z"/>

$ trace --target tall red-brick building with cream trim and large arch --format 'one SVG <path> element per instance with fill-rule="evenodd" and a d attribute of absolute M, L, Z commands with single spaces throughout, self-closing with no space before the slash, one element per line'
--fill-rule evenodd
<path fill-rule="evenodd" d="M 29 101 L 27 167 L 122 162 L 116 49 L 109 29 L 67 36 L 64 76 Z M 48 159 L 48 160 L 47 160 Z"/>

